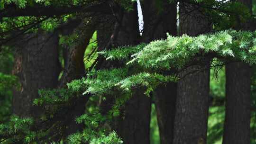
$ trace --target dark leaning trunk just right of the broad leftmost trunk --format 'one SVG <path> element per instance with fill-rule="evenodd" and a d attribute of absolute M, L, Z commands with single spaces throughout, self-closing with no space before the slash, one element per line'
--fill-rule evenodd
<path fill-rule="evenodd" d="M 86 23 L 85 21 L 90 21 Z M 73 33 L 78 33 L 79 38 L 77 44 L 70 46 L 64 46 L 64 50 L 68 54 L 64 54 L 64 73 L 61 77 L 59 87 L 66 87 L 66 83 L 70 82 L 74 79 L 79 79 L 85 74 L 84 67 L 84 52 L 90 43 L 91 36 L 96 30 L 96 20 L 92 19 L 84 19 L 78 27 L 75 27 L 70 32 L 66 32 L 68 35 L 72 35 Z"/>

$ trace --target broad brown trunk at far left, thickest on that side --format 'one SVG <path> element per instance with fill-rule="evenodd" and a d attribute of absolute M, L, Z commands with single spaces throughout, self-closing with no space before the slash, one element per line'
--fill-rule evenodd
<path fill-rule="evenodd" d="M 58 34 L 39 32 L 26 38 L 26 44 L 18 50 L 13 70 L 21 83 L 20 90 L 13 91 L 13 113 L 21 117 L 40 114 L 33 100 L 38 98 L 39 89 L 57 87 L 60 72 Z"/>

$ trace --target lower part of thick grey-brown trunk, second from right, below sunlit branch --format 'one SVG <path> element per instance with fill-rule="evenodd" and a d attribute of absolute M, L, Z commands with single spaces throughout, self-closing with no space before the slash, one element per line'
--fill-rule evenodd
<path fill-rule="evenodd" d="M 206 144 L 210 65 L 191 66 L 187 72 L 197 69 L 205 70 L 178 82 L 174 144 Z"/>

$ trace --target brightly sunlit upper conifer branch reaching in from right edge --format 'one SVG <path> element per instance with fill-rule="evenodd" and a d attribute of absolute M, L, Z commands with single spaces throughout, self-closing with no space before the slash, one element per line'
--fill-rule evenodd
<path fill-rule="evenodd" d="M 197 55 L 233 57 L 234 60 L 249 64 L 256 63 L 256 35 L 247 31 L 220 31 L 215 34 L 196 37 L 183 35 L 169 36 L 146 45 L 132 55 L 129 63 L 137 63 L 145 68 L 181 69 Z"/>

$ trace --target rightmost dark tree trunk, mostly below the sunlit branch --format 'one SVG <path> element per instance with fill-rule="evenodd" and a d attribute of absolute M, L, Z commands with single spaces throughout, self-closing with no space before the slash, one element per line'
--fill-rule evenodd
<path fill-rule="evenodd" d="M 251 0 L 238 0 L 252 9 Z M 241 24 L 252 29 L 250 22 Z M 226 114 L 223 144 L 250 144 L 251 67 L 243 62 L 226 65 Z"/>

